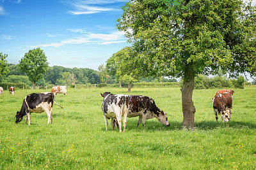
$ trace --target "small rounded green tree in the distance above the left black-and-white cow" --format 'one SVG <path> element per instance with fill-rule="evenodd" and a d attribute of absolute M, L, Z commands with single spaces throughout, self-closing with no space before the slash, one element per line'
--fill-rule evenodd
<path fill-rule="evenodd" d="M 43 78 L 48 68 L 47 57 L 40 48 L 29 50 L 19 61 L 20 71 L 28 75 L 29 80 L 35 88 L 36 81 Z"/>

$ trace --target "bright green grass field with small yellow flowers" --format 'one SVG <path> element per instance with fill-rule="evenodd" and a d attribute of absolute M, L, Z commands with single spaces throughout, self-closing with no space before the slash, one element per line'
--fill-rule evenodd
<path fill-rule="evenodd" d="M 132 89 L 154 99 L 170 127 L 156 118 L 137 126 L 127 118 L 125 132 L 105 131 L 100 93 L 127 89 L 70 89 L 58 94 L 52 124 L 32 113 L 31 125 L 15 124 L 23 98 L 16 90 L 0 96 L 0 169 L 256 169 L 256 87 L 234 89 L 231 122 L 216 122 L 211 98 L 218 89 L 194 90 L 195 130 L 182 129 L 179 88 Z M 110 120 L 109 120 L 109 129 Z"/>

